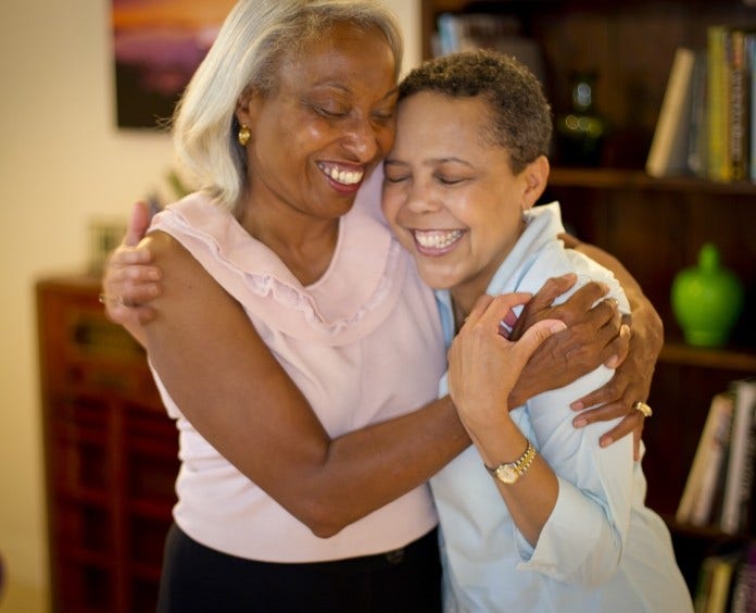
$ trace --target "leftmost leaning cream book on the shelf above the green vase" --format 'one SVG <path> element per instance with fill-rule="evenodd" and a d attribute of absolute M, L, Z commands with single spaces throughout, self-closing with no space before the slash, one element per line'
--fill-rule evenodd
<path fill-rule="evenodd" d="M 688 172 L 694 66 L 695 52 L 685 47 L 678 47 L 646 159 L 646 173 L 653 177 L 673 176 Z"/>

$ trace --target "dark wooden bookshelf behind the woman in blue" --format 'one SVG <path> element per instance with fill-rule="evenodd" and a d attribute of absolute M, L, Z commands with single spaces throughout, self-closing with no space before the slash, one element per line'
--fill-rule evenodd
<path fill-rule="evenodd" d="M 646 423 L 648 504 L 667 520 L 689 587 L 701 560 L 723 542 L 753 539 L 675 523 L 682 489 L 714 395 L 729 381 L 756 375 L 755 326 L 746 321 L 756 301 L 756 185 L 692 177 L 653 178 L 644 172 L 648 148 L 679 46 L 706 46 L 707 26 L 756 25 L 756 5 L 742 0 L 423 0 L 426 57 L 442 12 L 516 16 L 521 33 L 540 45 L 554 115 L 569 109 L 575 72 L 595 70 L 595 101 L 612 126 L 598 167 L 575 168 L 557 155 L 546 199 L 562 202 L 565 222 L 580 239 L 597 245 L 628 267 L 665 323 Z M 672 316 L 669 289 L 683 267 L 696 263 L 706 240 L 746 288 L 746 303 L 731 345 L 686 346 Z"/>

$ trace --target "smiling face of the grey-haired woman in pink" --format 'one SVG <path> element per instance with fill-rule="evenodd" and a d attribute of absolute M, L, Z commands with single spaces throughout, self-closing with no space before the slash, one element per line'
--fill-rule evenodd
<path fill-rule="evenodd" d="M 394 58 L 378 29 L 343 24 L 292 55 L 270 93 L 251 92 L 237 110 L 252 133 L 251 214 L 337 218 L 393 142 Z"/>

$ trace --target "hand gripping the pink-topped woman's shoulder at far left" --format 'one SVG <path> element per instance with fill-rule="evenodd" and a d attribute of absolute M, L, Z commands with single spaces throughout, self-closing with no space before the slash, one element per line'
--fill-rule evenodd
<path fill-rule="evenodd" d="M 137 202 L 124 239 L 108 258 L 100 297 L 108 317 L 124 326 L 140 342 L 141 325 L 155 316 L 149 302 L 161 292 L 161 271 L 150 265 L 150 250 L 140 247 L 150 217 L 147 203 Z"/>

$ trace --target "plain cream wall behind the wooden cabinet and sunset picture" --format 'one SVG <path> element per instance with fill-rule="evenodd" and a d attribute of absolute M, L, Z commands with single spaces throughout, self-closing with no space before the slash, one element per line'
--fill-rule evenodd
<path fill-rule="evenodd" d="M 402 21 L 420 57 L 419 0 Z M 164 185 L 167 136 L 113 121 L 110 0 L 0 4 L 0 611 L 48 610 L 35 282 L 83 271 L 92 218 L 125 218 Z"/>

